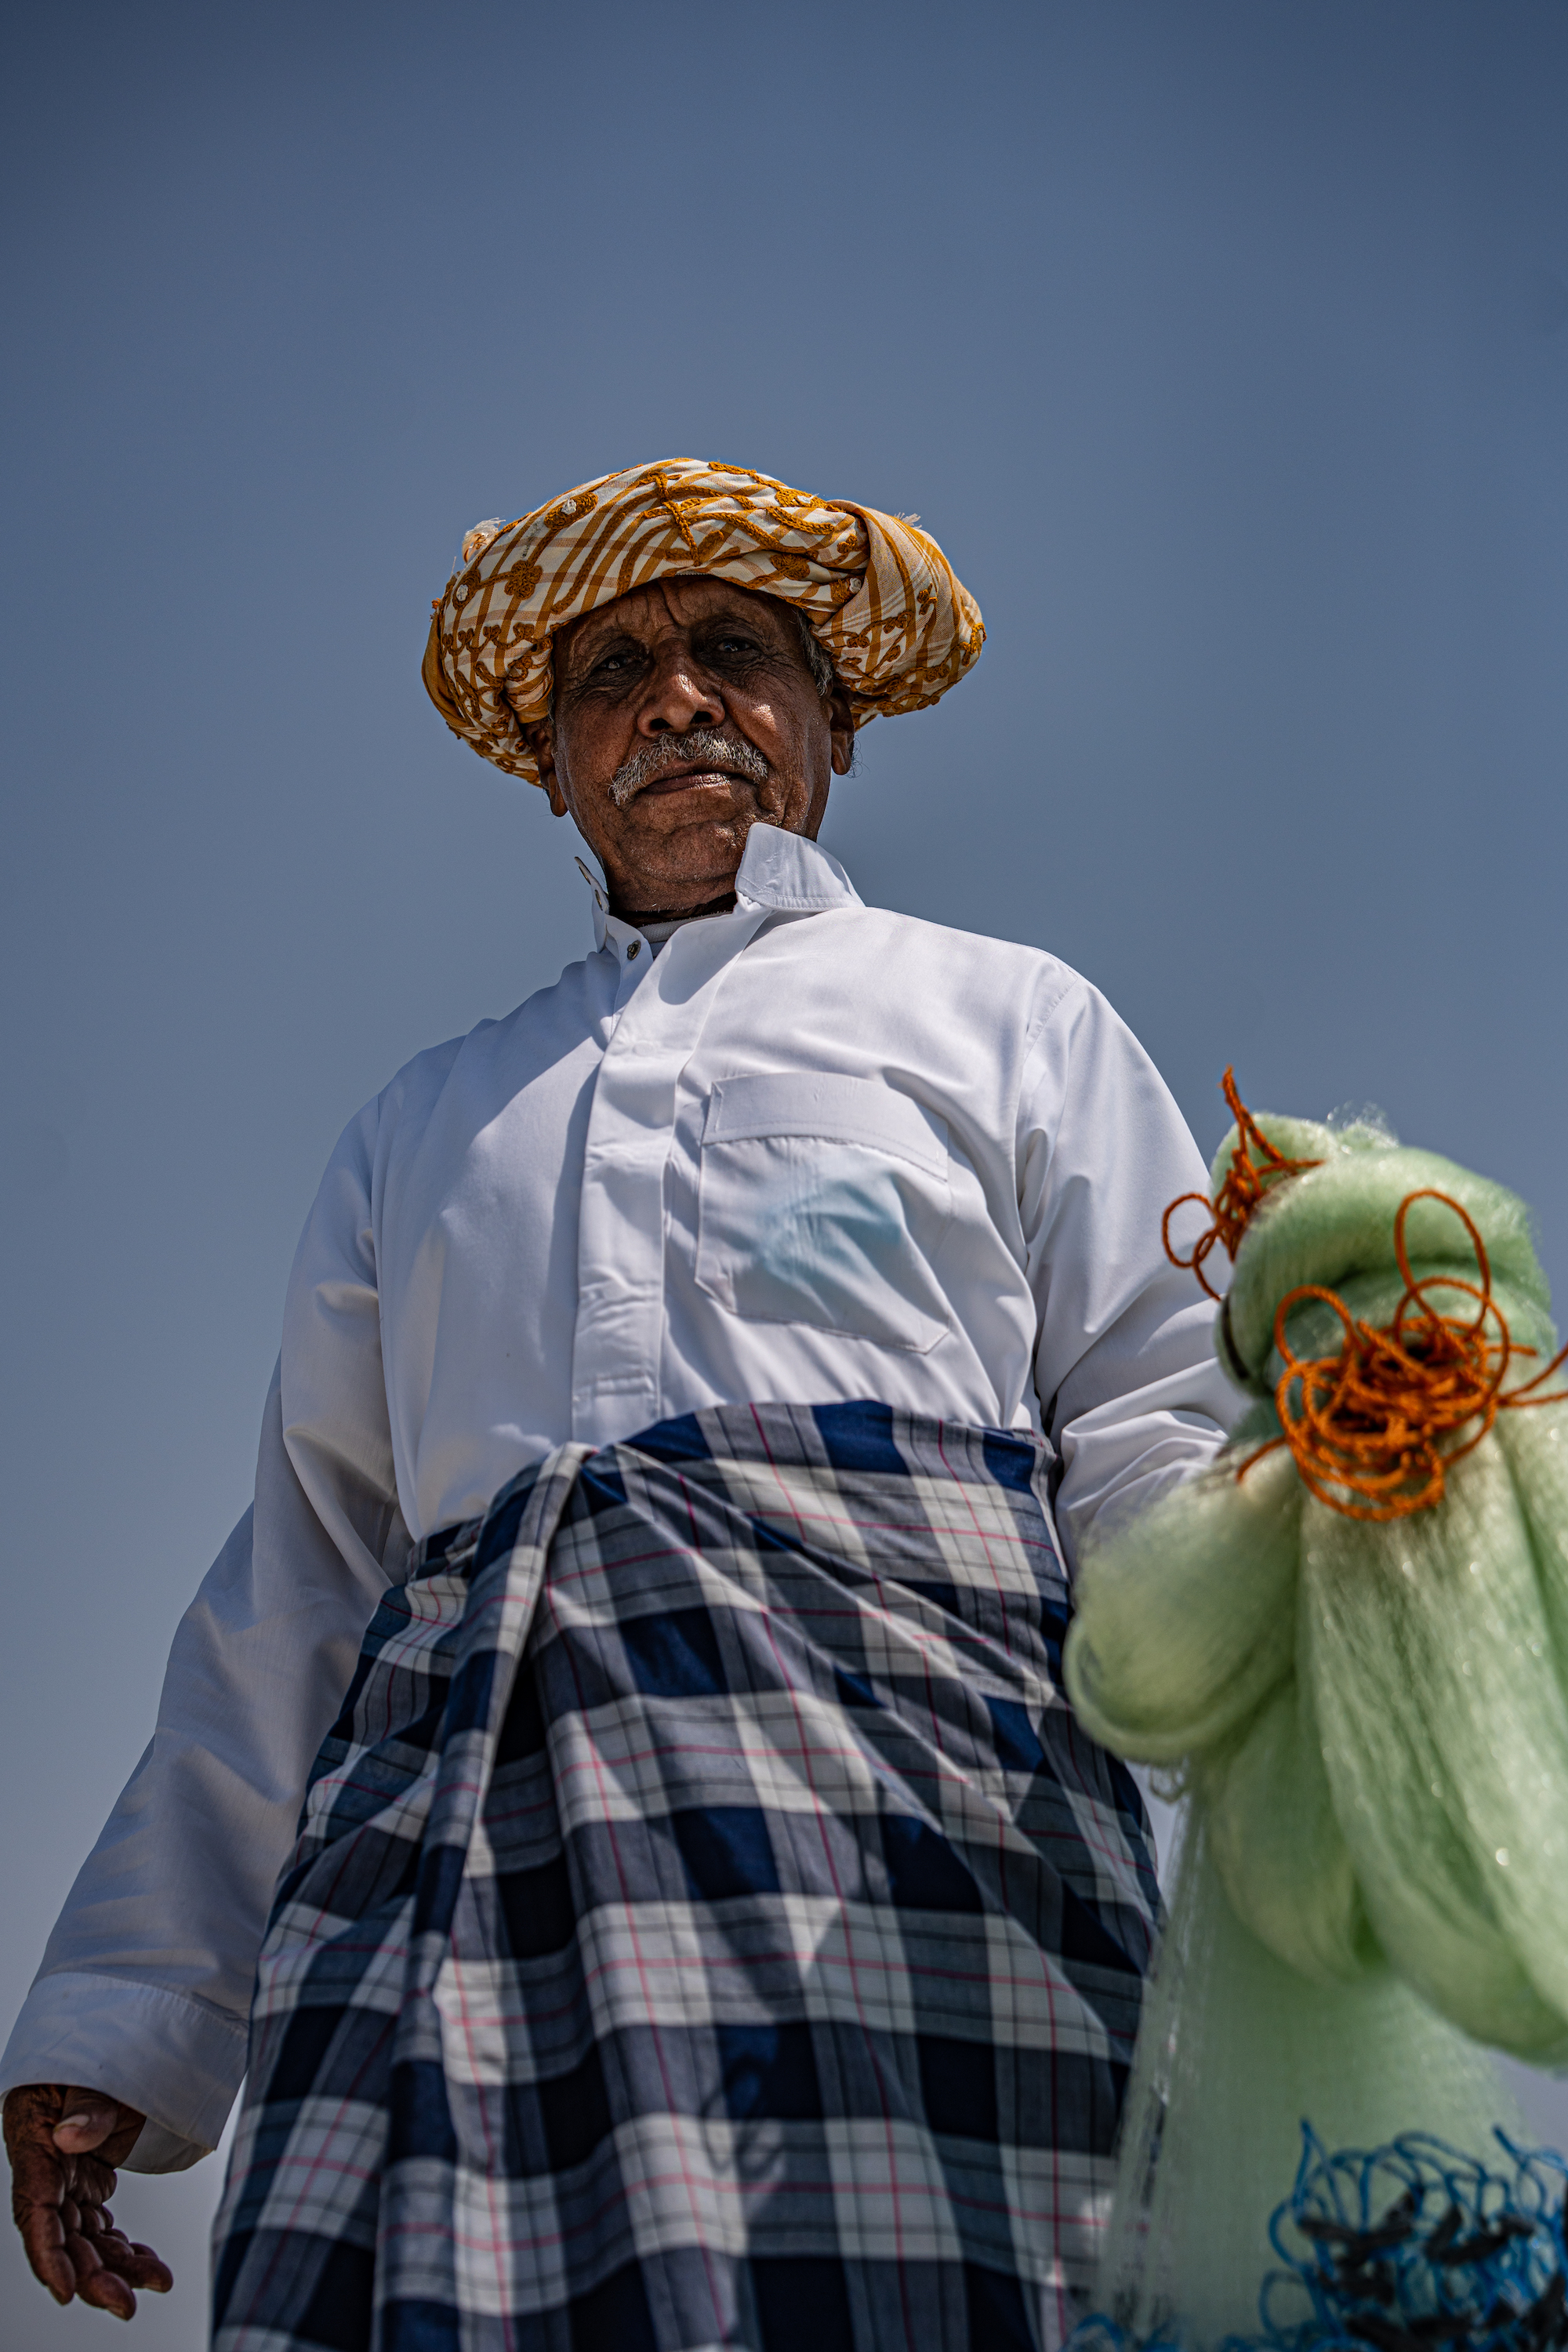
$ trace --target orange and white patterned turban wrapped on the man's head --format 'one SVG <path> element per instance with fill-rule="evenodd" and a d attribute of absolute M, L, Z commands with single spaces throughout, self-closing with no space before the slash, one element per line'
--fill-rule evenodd
<path fill-rule="evenodd" d="M 538 783 L 522 729 L 550 715 L 552 633 L 675 572 L 795 604 L 856 727 L 924 710 L 985 644 L 980 607 L 914 517 L 686 456 L 607 473 L 520 522 L 480 522 L 435 600 L 430 701 L 482 760 Z"/>

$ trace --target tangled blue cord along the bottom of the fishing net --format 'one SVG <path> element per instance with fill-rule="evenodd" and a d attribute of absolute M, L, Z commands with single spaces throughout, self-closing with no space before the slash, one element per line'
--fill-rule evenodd
<path fill-rule="evenodd" d="M 1269 2223 L 1281 2267 L 1258 2336 L 1220 2352 L 1552 2352 L 1568 2347 L 1568 2164 L 1497 2133 L 1502 2164 L 1410 2131 L 1328 2154 L 1312 2131 Z M 1067 2352 L 1187 2352 L 1180 2326 L 1133 2338 L 1086 2319 Z"/>

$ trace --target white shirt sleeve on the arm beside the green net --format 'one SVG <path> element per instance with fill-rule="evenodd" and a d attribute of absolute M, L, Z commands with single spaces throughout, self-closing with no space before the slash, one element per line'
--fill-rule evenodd
<path fill-rule="evenodd" d="M 1159 1070 L 1086 981 L 1051 1007 L 1018 1108 L 1020 1216 L 1039 1310 L 1034 1385 L 1060 1456 L 1070 1557 L 1103 1510 L 1140 1510 L 1201 1468 L 1239 1399 L 1213 1305 L 1164 1254 L 1161 1216 L 1208 1188 Z"/>

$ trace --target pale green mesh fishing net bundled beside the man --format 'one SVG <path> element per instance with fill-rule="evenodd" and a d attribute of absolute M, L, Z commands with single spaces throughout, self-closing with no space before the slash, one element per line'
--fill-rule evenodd
<path fill-rule="evenodd" d="M 1253 1134 L 1316 1162 L 1237 1242 L 1218 1345 L 1253 1406 L 1206 1475 L 1088 1548 L 1065 1653 L 1086 1729 L 1185 1802 L 1098 2303 L 1197 2347 L 1258 2326 L 1302 2124 L 1326 2150 L 1483 2150 L 1519 2129 L 1488 2049 L 1568 2063 L 1568 1406 L 1505 1404 L 1472 1451 L 1453 1432 L 1441 1501 L 1389 1519 L 1260 1454 L 1276 1336 L 1295 1359 L 1345 1338 L 1324 1298 L 1276 1334 L 1302 1284 L 1366 1327 L 1403 1298 L 1420 1352 L 1420 1315 L 1476 1319 L 1488 1282 L 1505 1397 L 1535 1378 L 1556 1338 L 1528 1211 L 1371 1124 Z M 1401 1270 L 1415 1192 L 1441 1200 L 1406 1207 Z"/>

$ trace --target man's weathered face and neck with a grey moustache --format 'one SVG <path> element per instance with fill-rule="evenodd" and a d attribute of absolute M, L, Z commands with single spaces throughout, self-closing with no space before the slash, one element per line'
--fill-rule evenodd
<path fill-rule="evenodd" d="M 555 637 L 555 706 L 529 748 L 621 915 L 726 898 L 762 821 L 816 830 L 849 769 L 842 694 L 816 691 L 792 616 L 729 581 L 635 588 Z"/>

